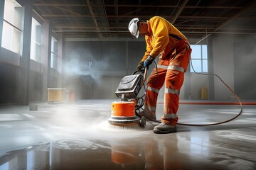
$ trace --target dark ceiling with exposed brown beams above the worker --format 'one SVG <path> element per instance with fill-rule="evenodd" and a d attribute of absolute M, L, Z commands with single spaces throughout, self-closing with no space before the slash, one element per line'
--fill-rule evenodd
<path fill-rule="evenodd" d="M 36 0 L 34 11 L 65 38 L 131 38 L 132 18 L 162 16 L 188 38 L 256 33 L 252 0 Z"/>

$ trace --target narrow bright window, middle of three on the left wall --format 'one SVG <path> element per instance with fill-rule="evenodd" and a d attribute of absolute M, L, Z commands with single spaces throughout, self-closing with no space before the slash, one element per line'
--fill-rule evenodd
<path fill-rule="evenodd" d="M 31 26 L 31 60 L 41 62 L 42 26 L 32 18 Z"/>

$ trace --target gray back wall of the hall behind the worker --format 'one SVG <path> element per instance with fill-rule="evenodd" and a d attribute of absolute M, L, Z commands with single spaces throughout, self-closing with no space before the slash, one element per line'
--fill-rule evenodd
<path fill-rule="evenodd" d="M 190 41 L 195 44 L 198 40 Z M 255 36 L 251 35 L 211 35 L 201 42 L 208 45 L 209 72 L 218 74 L 244 101 L 256 100 L 255 42 Z M 145 47 L 142 39 L 65 41 L 63 86 L 75 90 L 79 99 L 116 98 L 114 91 L 120 80 L 136 69 Z M 216 77 L 189 71 L 185 74 L 180 98 L 200 100 L 203 87 L 207 87 L 210 100 L 235 100 Z M 159 101 L 163 98 L 164 90 L 161 89 Z"/>

